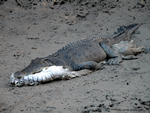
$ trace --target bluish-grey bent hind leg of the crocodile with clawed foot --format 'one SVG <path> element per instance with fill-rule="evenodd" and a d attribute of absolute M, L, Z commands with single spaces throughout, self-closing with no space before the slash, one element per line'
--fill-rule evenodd
<path fill-rule="evenodd" d="M 106 52 L 108 59 L 107 63 L 109 65 L 119 65 L 120 62 L 122 62 L 122 58 L 119 54 L 119 52 L 112 50 L 110 47 L 108 47 L 103 42 L 99 43 L 102 49 Z"/>

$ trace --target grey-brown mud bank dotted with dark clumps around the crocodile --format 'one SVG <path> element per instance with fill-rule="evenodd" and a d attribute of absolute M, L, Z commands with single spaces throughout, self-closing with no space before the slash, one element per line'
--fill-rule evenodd
<path fill-rule="evenodd" d="M 67 81 L 26 87 L 9 83 L 11 73 L 31 59 L 48 56 L 78 39 L 108 37 L 121 25 L 144 23 L 132 39 L 138 46 L 149 47 L 149 2 L 23 4 L 9 0 L 0 5 L 0 112 L 150 113 L 150 53 Z"/>

